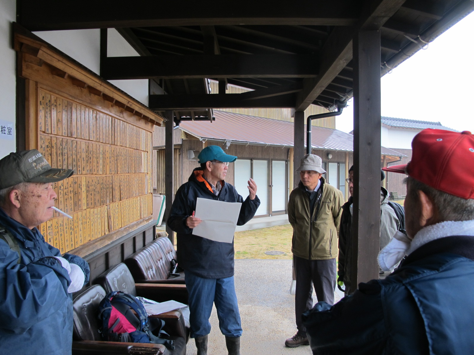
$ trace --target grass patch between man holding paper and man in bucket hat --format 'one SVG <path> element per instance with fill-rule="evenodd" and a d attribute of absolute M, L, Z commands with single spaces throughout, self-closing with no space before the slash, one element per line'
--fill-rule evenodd
<path fill-rule="evenodd" d="M 292 259 L 291 224 L 236 232 L 234 247 L 236 259 Z M 259 244 L 255 244 L 258 239 Z M 284 255 L 267 255 L 265 251 L 283 251 Z"/>

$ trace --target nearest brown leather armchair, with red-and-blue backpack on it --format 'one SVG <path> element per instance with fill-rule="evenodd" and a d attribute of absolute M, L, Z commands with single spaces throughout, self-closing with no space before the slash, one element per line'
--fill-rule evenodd
<path fill-rule="evenodd" d="M 171 337 L 174 340 L 174 350 L 169 350 L 162 344 L 102 341 L 98 312 L 100 301 L 105 295 L 106 292 L 100 285 L 92 285 L 76 294 L 73 300 L 73 355 L 186 354 L 186 343 L 182 337 Z"/>

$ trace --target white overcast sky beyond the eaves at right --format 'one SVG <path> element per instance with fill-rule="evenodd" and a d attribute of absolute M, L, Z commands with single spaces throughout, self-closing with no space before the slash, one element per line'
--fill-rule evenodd
<path fill-rule="evenodd" d="M 382 116 L 435 121 L 474 133 L 474 13 L 436 38 L 427 50 L 381 79 Z M 336 128 L 353 129 L 353 102 L 336 117 Z"/>

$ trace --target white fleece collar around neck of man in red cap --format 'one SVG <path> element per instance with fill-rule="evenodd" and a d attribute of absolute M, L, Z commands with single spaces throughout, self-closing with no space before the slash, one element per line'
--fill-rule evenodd
<path fill-rule="evenodd" d="M 411 241 L 407 255 L 410 255 L 413 251 L 430 241 L 453 235 L 474 237 L 474 220 L 440 222 L 421 229 Z"/>

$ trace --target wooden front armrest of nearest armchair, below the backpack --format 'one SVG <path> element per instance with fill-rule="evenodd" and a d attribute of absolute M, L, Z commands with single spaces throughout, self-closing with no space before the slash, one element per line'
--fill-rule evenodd
<path fill-rule="evenodd" d="M 164 353 L 165 347 L 151 343 L 83 340 L 73 341 L 72 350 L 73 355 L 160 355 Z"/>

